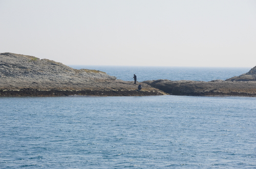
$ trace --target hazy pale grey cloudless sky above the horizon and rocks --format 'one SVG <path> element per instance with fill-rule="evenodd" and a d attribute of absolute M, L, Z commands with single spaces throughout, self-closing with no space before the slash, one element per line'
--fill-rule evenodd
<path fill-rule="evenodd" d="M 256 66 L 256 1 L 0 0 L 0 52 L 66 65 Z"/>

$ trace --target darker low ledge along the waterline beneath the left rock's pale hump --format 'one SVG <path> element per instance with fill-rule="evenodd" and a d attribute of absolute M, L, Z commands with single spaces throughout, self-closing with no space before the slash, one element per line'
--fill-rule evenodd
<path fill-rule="evenodd" d="M 8 83 L 9 84 L 9 83 Z M 16 81 L 0 87 L 0 96 L 157 96 L 161 90 L 142 83 L 138 91 L 133 81 L 94 79 L 84 83 L 66 81 Z"/>

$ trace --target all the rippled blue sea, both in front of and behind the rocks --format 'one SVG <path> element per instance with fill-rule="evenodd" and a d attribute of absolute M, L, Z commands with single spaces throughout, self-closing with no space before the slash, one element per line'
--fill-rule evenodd
<path fill-rule="evenodd" d="M 250 68 L 71 66 L 210 81 Z M 0 97 L 0 168 L 256 168 L 254 97 Z"/>

